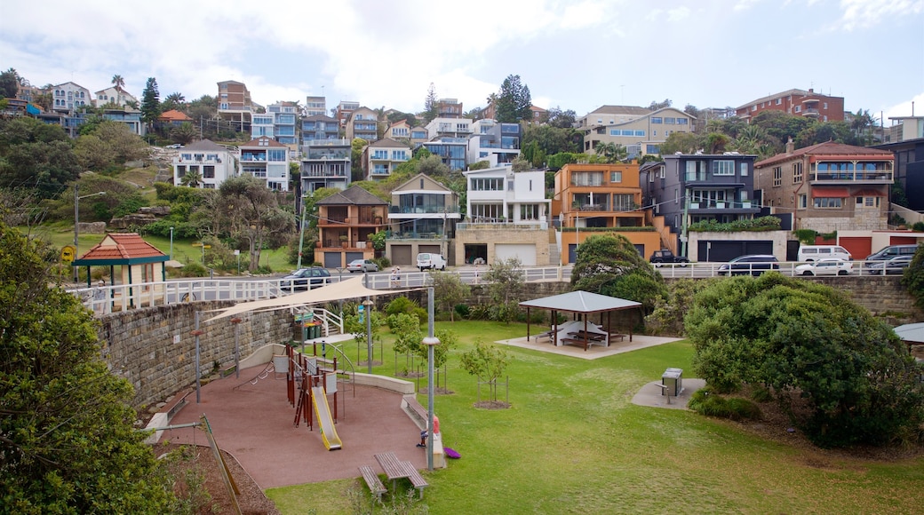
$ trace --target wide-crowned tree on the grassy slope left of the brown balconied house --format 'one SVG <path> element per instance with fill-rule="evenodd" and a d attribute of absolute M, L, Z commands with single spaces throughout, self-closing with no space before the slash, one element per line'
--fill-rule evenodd
<path fill-rule="evenodd" d="M 291 228 L 294 215 L 279 209 L 274 193 L 253 175 L 227 179 L 218 192 L 232 237 L 249 243 L 249 270 L 255 272 L 267 239 Z"/>

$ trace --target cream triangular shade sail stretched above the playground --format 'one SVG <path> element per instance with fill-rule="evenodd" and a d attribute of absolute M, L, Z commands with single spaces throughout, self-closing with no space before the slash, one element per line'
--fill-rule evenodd
<path fill-rule="evenodd" d="M 233 317 L 251 311 L 288 309 L 300 305 L 323 304 L 338 300 L 377 297 L 379 295 L 393 295 L 395 293 L 410 292 L 412 290 L 419 290 L 419 288 L 407 288 L 405 290 L 372 290 L 363 285 L 362 277 L 356 277 L 347 279 L 346 281 L 334 282 L 322 288 L 315 288 L 307 292 L 294 293 L 274 299 L 241 302 L 231 307 L 226 307 L 225 309 L 214 309 L 212 312 L 216 312 L 217 315 L 205 321 L 209 322 L 219 318 Z"/>

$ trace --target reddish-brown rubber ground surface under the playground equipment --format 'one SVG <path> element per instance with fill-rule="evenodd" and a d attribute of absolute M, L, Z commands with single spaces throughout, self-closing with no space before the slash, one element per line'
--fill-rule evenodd
<path fill-rule="evenodd" d="M 198 404 L 193 391 L 170 424 L 198 422 L 204 413 L 218 446 L 234 455 L 263 490 L 359 477 L 361 465 L 379 468 L 372 456 L 380 452 L 395 452 L 402 461 L 427 468 L 426 449 L 417 447 L 420 430 L 401 409 L 400 393 L 357 386 L 354 395 L 353 385 L 340 383 L 345 390 L 337 393 L 335 428 L 343 448 L 327 450 L 317 419 L 313 431 L 303 421 L 294 425 L 296 409 L 286 396 L 285 375 L 271 372 L 251 384 L 249 379 L 264 368 L 246 368 L 240 378 L 231 375 L 204 385 Z M 328 402 L 333 412 L 333 395 Z M 167 440 L 208 445 L 195 427 L 164 431 L 161 441 Z"/>

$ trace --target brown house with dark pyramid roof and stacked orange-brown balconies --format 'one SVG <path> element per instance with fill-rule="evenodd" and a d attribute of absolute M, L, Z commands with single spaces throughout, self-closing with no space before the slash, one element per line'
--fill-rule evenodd
<path fill-rule="evenodd" d="M 323 198 L 318 206 L 314 260 L 324 268 L 346 267 L 353 259 L 375 257 L 371 235 L 384 228 L 388 203 L 359 186 Z"/>

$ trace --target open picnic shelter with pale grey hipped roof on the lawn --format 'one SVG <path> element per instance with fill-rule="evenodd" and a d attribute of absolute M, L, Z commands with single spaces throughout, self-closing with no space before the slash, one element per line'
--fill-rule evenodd
<path fill-rule="evenodd" d="M 564 328 L 564 326 L 560 327 L 558 325 L 558 313 L 565 312 L 579 317 L 581 320 L 583 320 L 583 327 L 580 327 L 578 324 L 576 328 L 577 330 L 575 330 L 574 333 L 569 333 L 573 334 L 574 338 L 568 338 L 569 335 L 565 334 L 565 340 L 582 342 L 584 344 L 585 351 L 592 343 L 602 341 L 601 337 L 605 337 L 606 343 L 609 344 L 609 341 L 612 337 L 622 336 L 615 334 L 613 331 L 613 320 L 611 316 L 614 311 L 641 307 L 641 304 L 635 301 L 611 297 L 609 295 L 601 295 L 600 293 L 590 293 L 583 291 L 561 293 L 551 297 L 543 297 L 541 299 L 521 302 L 519 305 L 526 307 L 527 340 L 529 340 L 529 310 L 533 307 L 552 311 L 552 330 L 546 333 L 541 333 L 541 335 L 548 336 L 554 345 L 558 345 L 558 333 L 561 332 L 562 328 Z M 601 317 L 603 313 L 606 314 L 605 336 L 604 333 L 593 330 L 595 326 L 592 326 L 588 320 L 588 317 L 594 313 L 600 313 Z M 629 341 L 632 341 L 631 327 L 629 328 L 628 332 Z M 539 336 L 536 338 L 539 338 Z"/>

